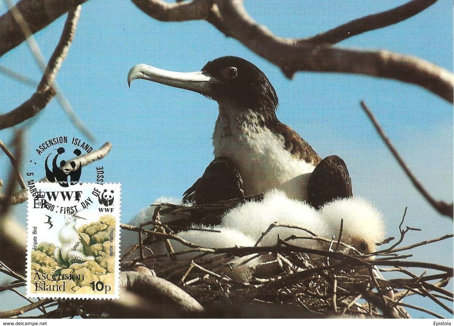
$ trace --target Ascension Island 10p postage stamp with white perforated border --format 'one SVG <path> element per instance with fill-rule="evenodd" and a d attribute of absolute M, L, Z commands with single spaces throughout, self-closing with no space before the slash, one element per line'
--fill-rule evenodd
<path fill-rule="evenodd" d="M 27 296 L 118 298 L 121 185 L 29 184 Z"/>

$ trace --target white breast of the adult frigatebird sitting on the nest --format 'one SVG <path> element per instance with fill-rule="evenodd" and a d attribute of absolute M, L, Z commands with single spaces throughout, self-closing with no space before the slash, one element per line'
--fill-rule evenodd
<path fill-rule="evenodd" d="M 219 114 L 213 133 L 215 157 L 224 156 L 235 163 L 245 195 L 276 188 L 289 198 L 306 200 L 307 181 L 315 166 L 292 156 L 284 147 L 283 136 L 250 123 L 251 118 L 248 122 Z"/>

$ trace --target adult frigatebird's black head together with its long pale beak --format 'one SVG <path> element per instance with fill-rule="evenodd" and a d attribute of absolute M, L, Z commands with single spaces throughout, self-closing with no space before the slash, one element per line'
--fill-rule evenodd
<path fill-rule="evenodd" d="M 179 73 L 138 64 L 129 71 L 128 83 L 134 79 L 189 89 L 220 104 L 227 102 L 238 109 L 263 111 L 271 116 L 275 116 L 278 105 L 276 91 L 265 74 L 249 61 L 233 56 L 209 61 L 202 71 L 194 73 Z"/>

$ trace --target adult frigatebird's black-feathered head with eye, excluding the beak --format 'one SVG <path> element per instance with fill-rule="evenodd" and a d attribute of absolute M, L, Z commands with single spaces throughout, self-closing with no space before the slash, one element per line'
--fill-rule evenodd
<path fill-rule="evenodd" d="M 217 101 L 230 100 L 238 107 L 255 110 L 277 109 L 277 94 L 270 81 L 262 70 L 245 59 L 217 58 L 208 61 L 202 72 L 220 81 L 213 84 L 213 93 L 207 95 Z"/>

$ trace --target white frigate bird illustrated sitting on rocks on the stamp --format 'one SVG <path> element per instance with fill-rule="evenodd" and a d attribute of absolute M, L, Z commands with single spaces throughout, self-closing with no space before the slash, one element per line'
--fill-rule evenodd
<path fill-rule="evenodd" d="M 66 214 L 64 216 L 64 226 L 58 232 L 58 239 L 61 247 L 55 247 L 54 256 L 57 262 L 67 263 L 83 263 L 94 261 L 93 256 L 89 256 L 89 244 L 79 234 L 76 229 L 76 219 L 80 217 L 77 212 L 74 214 Z"/>

